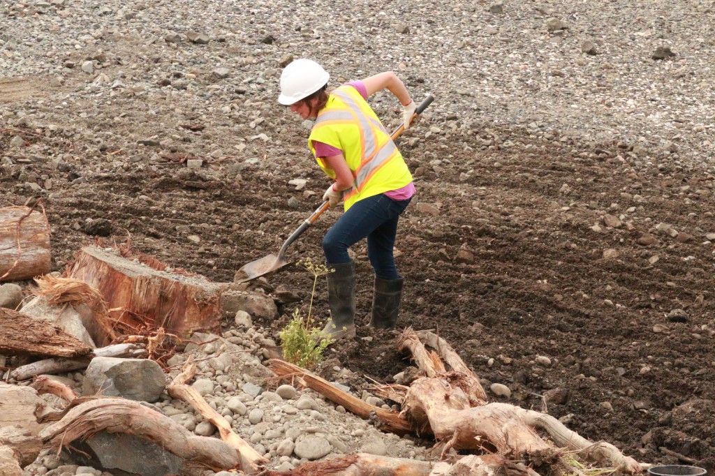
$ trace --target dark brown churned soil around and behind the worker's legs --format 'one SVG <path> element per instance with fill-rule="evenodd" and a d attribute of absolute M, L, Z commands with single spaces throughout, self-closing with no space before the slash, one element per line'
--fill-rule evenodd
<path fill-rule="evenodd" d="M 518 129 L 493 131 L 513 146 L 487 148 L 476 137 L 443 142 L 436 134 L 412 147 L 400 142 L 418 188 L 398 236 L 406 280 L 400 327 L 439 332 L 485 388 L 499 382 L 511 389 L 508 400 L 490 394 L 495 400 L 546 411 L 639 461 L 712 470 L 714 255 L 702 243 L 715 231 L 713 177 L 667 161 L 636 167 L 616 144 L 536 142 Z M 31 132 L 22 132 L 30 143 L 81 156 L 77 137 Z M 320 200 L 303 196 L 292 208 L 287 197 L 300 192 L 287 185 L 290 172 L 248 167 L 235 182 L 225 173 L 232 162 L 187 169 L 167 159 L 158 172 L 127 167 L 71 185 L 84 159 L 58 169 L 26 157 L 7 147 L 17 133 L 0 132 L 0 150 L 16 161 L 0 168 L 2 204 L 24 204 L 34 196 L 26 182 L 54 178 L 43 203 L 57 270 L 107 234 L 117 243 L 131 236 L 134 249 L 175 267 L 232 281 L 242 264 L 277 252 Z M 305 144 L 297 133 L 286 140 Z M 300 160 L 310 183 L 321 184 L 307 154 Z M 439 215 L 418 211 L 419 203 L 437 205 Z M 322 235 L 338 213 L 321 217 L 292 245 L 290 259 L 320 260 Z M 606 227 L 604 214 L 625 217 Z M 656 231 L 661 222 L 693 239 Z M 656 244 L 637 243 L 646 232 Z M 616 256 L 604 257 L 610 249 Z M 358 337 L 330 354 L 360 375 L 391 382 L 410 362 L 397 350 L 397 332 L 366 329 L 372 274 L 363 245 L 355 258 Z M 257 285 L 295 292 L 305 303 L 312 277 L 290 266 Z M 321 318 L 325 301 L 319 285 L 314 313 Z M 277 330 L 284 321 L 260 324 Z"/>

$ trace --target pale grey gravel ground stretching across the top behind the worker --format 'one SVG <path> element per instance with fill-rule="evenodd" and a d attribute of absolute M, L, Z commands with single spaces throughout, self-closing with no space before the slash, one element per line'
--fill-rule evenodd
<path fill-rule="evenodd" d="M 250 141 L 265 132 L 272 150 L 295 152 L 280 147 L 285 131 L 279 125 L 287 114 L 274 119 L 280 111 L 279 61 L 285 55 L 308 56 L 338 81 L 400 72 L 415 96 L 435 95 L 429 115 L 457 134 L 491 124 L 523 126 L 536 136 L 621 141 L 640 146 L 641 156 L 666 152 L 711 166 L 713 1 L 178 5 L 6 3 L 0 7 L 0 70 L 6 77 L 26 78 L 29 93 L 49 94 L 35 106 L 44 119 L 66 122 L 64 109 L 71 107 L 80 121 L 97 119 L 99 112 L 121 124 L 127 119 L 121 116 L 130 115 L 121 107 L 127 102 L 141 111 L 147 96 L 186 100 L 187 110 L 167 104 L 142 111 L 160 116 L 142 125 L 161 135 L 162 121 L 190 110 L 235 123 L 227 134 L 217 134 L 215 145 Z M 189 31 L 209 43 L 192 43 L 185 36 Z M 653 59 L 663 48 L 674 56 Z M 92 73 L 81 70 L 88 59 L 94 59 Z M 212 73 L 217 68 L 227 69 L 227 77 L 218 79 Z M 48 90 L 52 80 L 64 85 Z M 394 108 L 392 98 L 385 102 L 385 108 Z M 113 103 L 119 110 L 104 107 Z M 257 134 L 242 135 L 242 119 L 260 111 L 271 124 L 253 124 Z M 195 151 L 200 152 L 214 151 Z"/>

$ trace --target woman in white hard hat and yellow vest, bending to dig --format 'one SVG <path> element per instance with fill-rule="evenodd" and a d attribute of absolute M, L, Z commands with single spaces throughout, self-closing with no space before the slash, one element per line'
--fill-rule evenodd
<path fill-rule="evenodd" d="M 375 270 L 370 327 L 395 327 L 400 312 L 403 277 L 395 267 L 393 249 L 398 219 L 415 194 L 412 174 L 390 134 L 366 101 L 388 89 L 403 105 L 405 129 L 415 114 L 415 102 L 392 71 L 375 74 L 327 91 L 330 75 L 310 59 L 285 66 L 278 102 L 302 119 L 315 119 L 308 147 L 332 182 L 323 200 L 345 213 L 322 240 L 327 267 L 330 319 L 322 337 L 355 337 L 355 263 L 347 253 L 367 237 L 368 257 Z"/>

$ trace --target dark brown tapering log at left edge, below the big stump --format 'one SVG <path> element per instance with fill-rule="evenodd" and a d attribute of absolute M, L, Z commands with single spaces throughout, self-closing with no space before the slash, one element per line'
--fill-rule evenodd
<path fill-rule="evenodd" d="M 51 322 L 0 308 L 0 354 L 78 357 L 89 352 L 91 347 Z"/>

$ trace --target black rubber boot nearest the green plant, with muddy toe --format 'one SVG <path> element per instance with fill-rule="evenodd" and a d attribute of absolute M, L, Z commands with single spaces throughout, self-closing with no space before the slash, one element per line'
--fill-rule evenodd
<path fill-rule="evenodd" d="M 355 337 L 355 263 L 328 264 L 335 272 L 327 276 L 330 319 L 321 334 L 330 339 Z"/>

